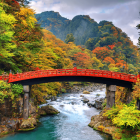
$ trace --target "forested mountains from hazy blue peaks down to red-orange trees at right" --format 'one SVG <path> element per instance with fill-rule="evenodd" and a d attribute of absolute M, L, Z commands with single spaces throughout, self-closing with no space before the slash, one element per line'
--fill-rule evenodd
<path fill-rule="evenodd" d="M 88 15 L 78 15 L 68 20 L 54 11 L 35 14 L 35 17 L 41 27 L 50 30 L 66 43 L 74 36 L 76 45 L 91 50 L 104 64 L 102 69 L 113 71 L 126 69 L 133 71 L 132 73 L 139 70 L 137 46 L 133 45 L 127 34 L 112 22 L 103 20 L 97 23 Z"/>

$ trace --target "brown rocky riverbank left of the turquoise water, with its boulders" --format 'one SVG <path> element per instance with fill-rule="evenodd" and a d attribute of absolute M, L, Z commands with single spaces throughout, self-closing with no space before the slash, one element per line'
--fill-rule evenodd
<path fill-rule="evenodd" d="M 32 116 L 30 115 L 27 120 L 23 118 L 3 117 L 0 125 L 0 137 L 19 131 L 31 131 L 37 127 L 38 119 L 41 116 L 56 115 L 58 113 L 60 112 L 54 107 L 46 105 L 36 109 L 36 113 Z"/>

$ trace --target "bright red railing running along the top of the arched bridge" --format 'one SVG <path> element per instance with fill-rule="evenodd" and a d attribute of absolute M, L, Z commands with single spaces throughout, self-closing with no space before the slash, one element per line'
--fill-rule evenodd
<path fill-rule="evenodd" d="M 27 79 L 54 77 L 54 76 L 92 76 L 119 79 L 124 81 L 136 82 L 137 76 L 119 72 L 93 69 L 51 69 L 37 70 L 25 73 L 9 74 L 9 82 L 16 82 Z"/>

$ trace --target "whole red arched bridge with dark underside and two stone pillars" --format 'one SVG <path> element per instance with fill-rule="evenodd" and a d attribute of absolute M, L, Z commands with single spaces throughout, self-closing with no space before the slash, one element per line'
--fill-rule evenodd
<path fill-rule="evenodd" d="M 85 81 L 94 83 L 103 83 L 107 85 L 107 107 L 115 105 L 116 85 L 127 87 L 132 90 L 132 85 L 136 83 L 138 76 L 94 69 L 52 69 L 37 70 L 25 73 L 9 74 L 8 83 L 19 83 L 23 85 L 24 90 L 24 109 L 23 117 L 29 116 L 29 92 L 30 85 L 61 82 L 61 81 Z"/>

